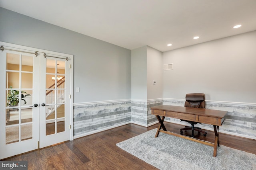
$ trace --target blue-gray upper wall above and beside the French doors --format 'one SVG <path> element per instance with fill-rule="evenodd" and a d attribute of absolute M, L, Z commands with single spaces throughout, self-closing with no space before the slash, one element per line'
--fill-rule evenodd
<path fill-rule="evenodd" d="M 0 41 L 74 55 L 74 103 L 131 98 L 131 51 L 0 8 Z"/>

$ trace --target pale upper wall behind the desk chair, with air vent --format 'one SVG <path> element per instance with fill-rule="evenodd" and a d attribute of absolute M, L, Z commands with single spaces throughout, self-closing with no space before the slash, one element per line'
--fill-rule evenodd
<path fill-rule="evenodd" d="M 163 53 L 163 98 L 256 103 L 256 31 Z"/>

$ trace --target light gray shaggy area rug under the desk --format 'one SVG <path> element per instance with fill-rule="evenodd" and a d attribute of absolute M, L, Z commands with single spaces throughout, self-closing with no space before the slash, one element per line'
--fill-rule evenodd
<path fill-rule="evenodd" d="M 160 170 L 256 170 L 255 154 L 220 145 L 213 157 L 213 147 L 156 130 L 116 145 Z"/>

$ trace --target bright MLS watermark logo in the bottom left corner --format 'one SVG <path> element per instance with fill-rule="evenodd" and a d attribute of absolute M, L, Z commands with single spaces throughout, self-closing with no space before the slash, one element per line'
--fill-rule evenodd
<path fill-rule="evenodd" d="M 0 161 L 1 170 L 28 170 L 28 161 Z"/>

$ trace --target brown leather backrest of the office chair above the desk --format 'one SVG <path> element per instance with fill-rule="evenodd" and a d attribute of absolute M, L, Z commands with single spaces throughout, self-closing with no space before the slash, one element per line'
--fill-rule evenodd
<path fill-rule="evenodd" d="M 203 93 L 186 94 L 185 107 L 205 108 Z"/>

